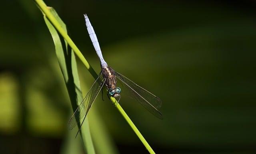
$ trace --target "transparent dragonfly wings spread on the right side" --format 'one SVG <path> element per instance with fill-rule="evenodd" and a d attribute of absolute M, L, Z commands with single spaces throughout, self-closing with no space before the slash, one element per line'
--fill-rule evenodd
<path fill-rule="evenodd" d="M 144 107 L 146 108 L 150 113 L 152 113 L 154 116 L 163 119 L 162 114 L 157 110 L 161 107 L 162 102 L 161 100 L 147 91 L 146 89 L 140 87 L 124 75 L 118 73 L 115 71 L 115 75 L 117 79 L 122 81 L 124 83 L 121 88 L 121 91 L 128 89 L 127 91 L 124 91 L 124 93 L 130 92 L 132 93 L 133 97 Z M 118 83 L 118 82 L 117 82 Z"/>

